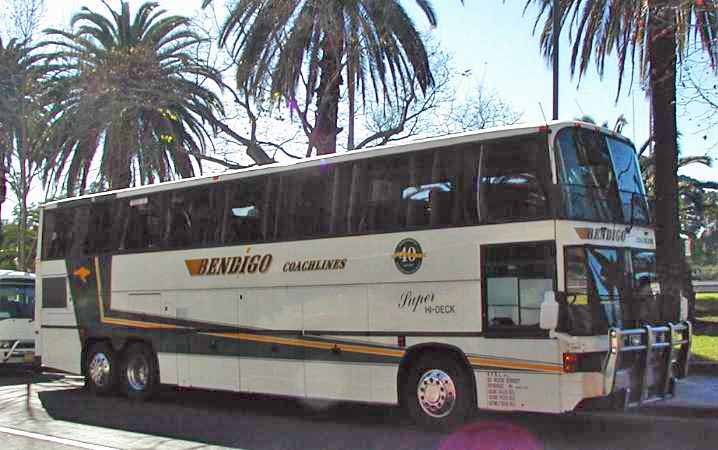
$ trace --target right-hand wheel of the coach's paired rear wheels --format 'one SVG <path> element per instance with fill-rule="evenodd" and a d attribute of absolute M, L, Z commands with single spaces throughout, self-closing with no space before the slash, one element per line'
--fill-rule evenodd
<path fill-rule="evenodd" d="M 122 390 L 132 400 L 148 400 L 157 391 L 159 370 L 157 358 L 144 344 L 132 344 L 125 352 Z"/>

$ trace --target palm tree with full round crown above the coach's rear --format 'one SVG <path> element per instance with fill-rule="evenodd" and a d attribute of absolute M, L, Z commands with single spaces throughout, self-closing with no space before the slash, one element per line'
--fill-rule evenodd
<path fill-rule="evenodd" d="M 69 195 L 82 193 L 101 152 L 100 180 L 110 188 L 194 175 L 201 170 L 220 98 L 207 82 L 223 86 L 217 71 L 193 50 L 202 39 L 189 19 L 144 3 L 132 16 L 106 2 L 109 16 L 88 8 L 72 31 L 46 30 L 45 60 L 59 104 L 47 180 L 65 180 Z"/>

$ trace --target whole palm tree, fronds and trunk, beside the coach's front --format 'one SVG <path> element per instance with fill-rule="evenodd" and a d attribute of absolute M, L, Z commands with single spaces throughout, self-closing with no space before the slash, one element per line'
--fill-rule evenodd
<path fill-rule="evenodd" d="M 553 53 L 552 4 L 554 0 L 527 0 L 538 5 L 537 24 L 545 19 L 541 45 L 546 56 Z M 638 57 L 640 75 L 647 82 L 653 117 L 652 138 L 656 176 L 657 258 L 664 317 L 678 311 L 682 267 L 678 240 L 678 152 L 676 126 L 676 64 L 692 41 L 699 41 L 715 66 L 718 55 L 714 37 L 718 32 L 716 0 L 559 0 L 562 25 L 571 27 L 572 73 L 583 75 L 595 59 L 603 75 L 606 57 L 616 52 L 618 94 L 626 73 L 632 73 Z M 560 32 L 560 30 L 555 30 Z M 618 95 L 617 94 L 617 95 Z"/>

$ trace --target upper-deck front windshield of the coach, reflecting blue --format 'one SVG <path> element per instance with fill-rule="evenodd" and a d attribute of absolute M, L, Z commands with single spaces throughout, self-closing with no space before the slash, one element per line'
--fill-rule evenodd
<path fill-rule="evenodd" d="M 562 214 L 567 219 L 647 225 L 648 204 L 633 147 L 595 130 L 558 135 Z"/>

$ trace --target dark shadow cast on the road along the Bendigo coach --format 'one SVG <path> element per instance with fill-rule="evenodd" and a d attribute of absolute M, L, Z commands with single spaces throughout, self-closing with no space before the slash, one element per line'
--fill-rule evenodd
<path fill-rule="evenodd" d="M 156 440 L 150 442 L 152 447 L 166 439 L 181 439 L 253 450 L 531 450 L 544 448 L 541 442 L 561 443 L 551 448 L 621 448 L 627 433 L 646 436 L 655 431 L 650 423 L 494 413 L 482 414 L 461 430 L 447 434 L 415 427 L 398 408 L 386 406 L 175 388 L 165 388 L 148 403 L 95 397 L 80 388 L 38 395 L 53 419 L 148 434 Z M 586 445 L 591 436 L 600 437 L 595 441 L 599 447 Z M 472 445 L 467 446 L 467 442 Z"/>

